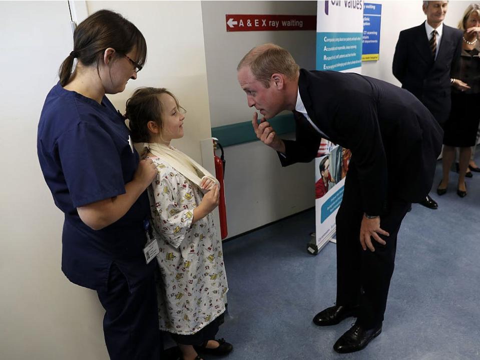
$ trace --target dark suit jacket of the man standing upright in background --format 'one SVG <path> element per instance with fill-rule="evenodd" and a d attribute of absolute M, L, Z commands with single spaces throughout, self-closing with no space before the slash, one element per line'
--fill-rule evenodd
<path fill-rule="evenodd" d="M 400 32 L 393 55 L 393 75 L 414 94 L 439 123 L 450 113 L 450 73 L 460 58 L 462 32 L 443 24 L 435 60 L 428 44 L 425 23 Z"/>

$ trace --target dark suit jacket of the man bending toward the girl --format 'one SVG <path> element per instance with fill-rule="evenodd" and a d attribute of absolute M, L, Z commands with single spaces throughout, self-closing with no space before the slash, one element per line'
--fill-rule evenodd
<path fill-rule="evenodd" d="M 363 211 L 383 214 L 389 196 L 418 202 L 430 191 L 443 131 L 410 92 L 355 73 L 300 69 L 300 96 L 329 139 L 352 151 Z M 315 158 L 320 136 L 302 116 L 284 140 L 283 166 Z M 348 176 L 348 174 L 347 174 Z"/>

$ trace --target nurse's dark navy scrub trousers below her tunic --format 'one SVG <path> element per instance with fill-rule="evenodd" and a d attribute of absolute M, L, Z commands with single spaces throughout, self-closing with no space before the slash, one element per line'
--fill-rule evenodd
<path fill-rule="evenodd" d="M 127 278 L 114 263 L 107 291 L 97 292 L 106 310 L 103 327 L 110 358 L 159 360 L 163 339 L 158 326 L 154 275 L 129 290 Z"/>

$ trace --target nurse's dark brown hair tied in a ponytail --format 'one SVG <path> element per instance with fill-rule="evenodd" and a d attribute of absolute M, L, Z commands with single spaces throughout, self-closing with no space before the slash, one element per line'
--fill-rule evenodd
<path fill-rule="evenodd" d="M 100 10 L 75 28 L 74 49 L 59 69 L 60 84 L 65 86 L 69 82 L 76 57 L 83 66 L 96 64 L 100 76 L 100 61 L 108 47 L 114 48 L 119 56 L 135 49 L 136 62 L 141 66 L 147 60 L 147 43 L 140 30 L 119 13 Z"/>

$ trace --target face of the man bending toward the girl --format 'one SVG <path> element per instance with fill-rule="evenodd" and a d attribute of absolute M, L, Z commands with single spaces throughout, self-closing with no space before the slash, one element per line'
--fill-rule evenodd
<path fill-rule="evenodd" d="M 273 80 L 270 81 L 270 87 L 257 80 L 249 66 L 243 66 L 237 72 L 238 82 L 243 91 L 247 94 L 247 103 L 249 107 L 255 106 L 257 110 L 265 117 L 270 119 L 283 108 L 283 91 L 279 90 Z"/>

